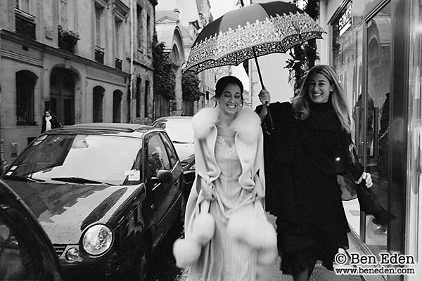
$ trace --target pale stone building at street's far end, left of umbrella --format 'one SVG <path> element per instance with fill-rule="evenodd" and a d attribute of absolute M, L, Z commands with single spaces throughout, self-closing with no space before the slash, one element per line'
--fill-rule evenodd
<path fill-rule="evenodd" d="M 191 102 L 183 100 L 181 88 L 181 68 L 188 59 L 191 46 L 200 30 L 212 22 L 210 2 L 208 0 L 167 0 L 159 1 L 156 8 L 155 28 L 158 41 L 165 43 L 170 53 L 176 74 L 174 111 L 173 115 L 194 115 L 200 108 L 210 104 L 214 96 L 215 72 L 205 70 L 198 74 L 200 91 L 203 96 L 200 100 Z"/>

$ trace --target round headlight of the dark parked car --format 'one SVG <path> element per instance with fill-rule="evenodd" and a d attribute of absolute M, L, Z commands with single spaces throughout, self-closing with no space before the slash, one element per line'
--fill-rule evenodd
<path fill-rule="evenodd" d="M 113 233 L 108 226 L 96 224 L 91 226 L 84 233 L 82 246 L 88 254 L 99 256 L 110 249 L 113 243 Z"/>

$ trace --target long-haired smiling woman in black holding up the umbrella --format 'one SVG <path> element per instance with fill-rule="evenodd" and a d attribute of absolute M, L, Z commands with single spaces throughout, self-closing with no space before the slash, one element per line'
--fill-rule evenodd
<path fill-rule="evenodd" d="M 260 92 L 262 104 L 270 94 Z M 295 281 L 309 280 L 317 260 L 333 270 L 338 249 L 348 249 L 347 223 L 337 182 L 347 159 L 351 116 L 333 67 L 312 67 L 292 103 L 260 105 L 265 126 L 267 210 L 277 216 L 281 270 Z M 341 162 L 341 161 L 340 161 Z M 371 175 L 359 178 L 372 185 Z"/>

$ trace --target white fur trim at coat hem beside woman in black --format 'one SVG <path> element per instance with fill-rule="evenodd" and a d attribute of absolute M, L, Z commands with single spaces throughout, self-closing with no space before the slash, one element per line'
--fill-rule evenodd
<path fill-rule="evenodd" d="M 277 247 L 277 235 L 274 226 L 268 221 L 248 217 L 242 211 L 231 216 L 227 231 L 237 240 L 249 244 L 254 249 Z"/>

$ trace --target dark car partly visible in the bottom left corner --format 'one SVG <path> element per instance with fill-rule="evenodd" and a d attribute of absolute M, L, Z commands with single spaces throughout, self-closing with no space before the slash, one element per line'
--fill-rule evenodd
<path fill-rule="evenodd" d="M 0 181 L 0 280 L 62 280 L 49 237 L 4 181 Z"/>

